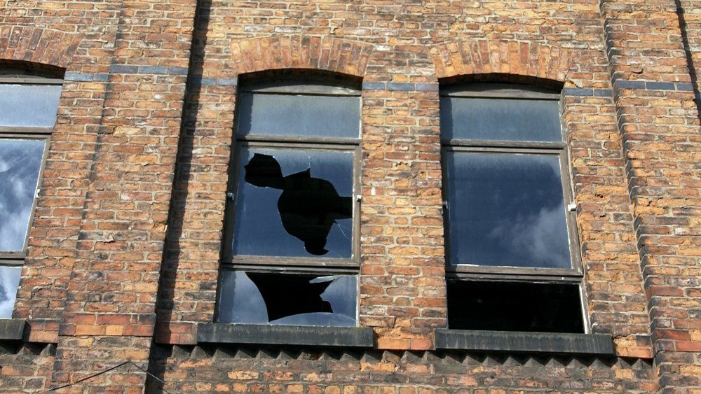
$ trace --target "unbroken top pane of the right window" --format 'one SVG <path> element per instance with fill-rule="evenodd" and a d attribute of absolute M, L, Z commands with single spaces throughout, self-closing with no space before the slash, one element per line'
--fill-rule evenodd
<path fill-rule="evenodd" d="M 562 141 L 554 100 L 441 97 L 443 139 Z"/>

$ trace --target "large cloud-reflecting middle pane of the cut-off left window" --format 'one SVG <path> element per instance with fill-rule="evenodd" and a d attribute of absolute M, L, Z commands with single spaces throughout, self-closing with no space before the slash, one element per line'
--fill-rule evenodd
<path fill-rule="evenodd" d="M 41 160 L 43 139 L 0 139 L 0 251 L 22 251 Z"/>

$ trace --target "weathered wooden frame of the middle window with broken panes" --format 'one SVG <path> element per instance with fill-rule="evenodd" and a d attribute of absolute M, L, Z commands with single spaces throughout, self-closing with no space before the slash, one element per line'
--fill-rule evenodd
<path fill-rule="evenodd" d="M 302 83 L 303 82 L 303 83 Z M 339 85 L 357 85 L 351 88 Z M 219 306 L 222 296 L 222 277 L 225 271 L 259 272 L 270 274 L 312 274 L 319 276 L 327 275 L 354 275 L 356 277 L 356 300 L 355 300 L 355 327 L 359 327 L 358 316 L 358 296 L 360 295 L 360 169 L 361 169 L 361 133 L 362 133 L 362 91 L 360 81 L 353 80 L 348 83 L 346 80 L 336 81 L 329 78 L 251 78 L 239 83 L 236 92 L 237 104 L 243 94 L 289 94 L 304 96 L 325 96 L 325 97 L 358 97 L 358 136 L 332 137 L 332 136 L 282 136 L 282 135 L 240 135 L 238 134 L 239 122 L 241 119 L 240 105 L 236 105 L 234 110 L 235 121 L 233 128 L 233 144 L 229 158 L 229 178 L 226 188 L 226 207 L 224 211 L 224 230 L 222 234 L 222 258 L 219 269 L 219 281 L 217 290 L 217 308 L 215 309 L 215 322 L 219 322 Z M 319 150 L 319 151 L 339 151 L 352 155 L 351 178 L 353 180 L 353 216 L 351 218 L 351 257 L 350 258 L 328 258 L 323 256 L 307 257 L 287 257 L 287 256 L 267 256 L 267 255 L 233 255 L 232 245 L 234 227 L 236 225 L 236 204 L 238 185 L 241 181 L 242 162 L 240 153 L 247 148 L 260 149 L 280 149 L 280 150 Z M 225 325 L 250 325 L 250 323 L 219 322 L 215 324 Z M 290 327 L 287 325 L 264 324 L 264 327 Z M 333 328 L 334 326 L 309 326 L 311 328 Z M 343 327 L 339 327 L 343 329 Z"/>

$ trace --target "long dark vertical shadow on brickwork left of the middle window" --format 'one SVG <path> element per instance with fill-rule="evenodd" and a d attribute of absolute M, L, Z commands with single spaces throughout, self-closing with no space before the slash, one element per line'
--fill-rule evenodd
<path fill-rule="evenodd" d="M 168 232 L 166 233 L 165 251 L 161 264 L 161 281 L 158 283 L 158 300 L 156 302 L 156 336 L 170 334 L 170 316 L 174 307 L 175 280 L 179 266 L 180 237 L 183 230 L 185 203 L 188 195 L 189 178 L 191 172 L 191 160 L 193 141 L 198 118 L 198 106 L 200 104 L 200 81 L 203 75 L 203 59 L 205 57 L 205 44 L 207 41 L 207 29 L 210 22 L 211 0 L 198 0 L 195 9 L 195 22 L 193 42 L 190 52 L 189 73 L 185 89 L 183 104 L 183 118 L 178 141 L 177 162 L 168 213 Z M 165 375 L 163 352 L 161 346 L 151 343 L 149 357 L 149 373 L 154 377 L 147 377 L 146 393 L 168 393 L 161 381 Z M 160 379 L 161 381 L 158 381 Z"/>

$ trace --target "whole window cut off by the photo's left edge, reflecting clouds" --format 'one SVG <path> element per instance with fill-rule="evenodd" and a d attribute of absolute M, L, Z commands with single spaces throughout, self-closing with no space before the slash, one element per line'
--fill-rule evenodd
<path fill-rule="evenodd" d="M 11 318 L 61 80 L 0 70 L 0 318 Z"/>

